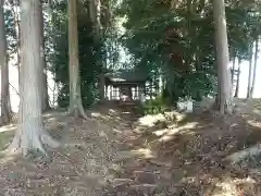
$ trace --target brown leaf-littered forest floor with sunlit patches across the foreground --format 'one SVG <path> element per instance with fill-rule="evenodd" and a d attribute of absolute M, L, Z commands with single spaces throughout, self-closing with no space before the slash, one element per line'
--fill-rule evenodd
<path fill-rule="evenodd" d="M 48 130 L 65 146 L 50 158 L 0 159 L 0 195 L 261 195 L 258 172 L 223 161 L 261 140 L 260 127 L 241 115 L 224 120 L 207 112 L 152 126 L 137 123 L 134 108 L 102 106 L 88 115 L 77 122 L 62 113 L 47 115 Z M 7 135 L 4 140 L 12 134 Z"/>

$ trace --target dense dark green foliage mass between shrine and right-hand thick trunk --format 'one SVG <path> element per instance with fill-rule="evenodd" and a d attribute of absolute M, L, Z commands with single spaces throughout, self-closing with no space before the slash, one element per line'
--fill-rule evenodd
<path fill-rule="evenodd" d="M 126 2 L 128 8 L 124 7 Z M 126 27 L 129 30 L 124 42 L 138 59 L 137 66 L 151 74 L 154 70 L 161 71 L 164 97 L 173 102 L 181 96 L 197 97 L 211 91 L 210 76 L 214 74 L 214 48 L 210 44 L 212 17 L 190 19 L 186 10 L 174 11 L 158 1 L 126 2 L 123 8 L 128 13 Z M 207 30 L 209 34 L 203 34 Z"/>

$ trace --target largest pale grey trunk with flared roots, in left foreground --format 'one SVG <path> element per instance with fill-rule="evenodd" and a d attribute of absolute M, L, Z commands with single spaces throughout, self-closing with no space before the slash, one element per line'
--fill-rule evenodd
<path fill-rule="evenodd" d="M 21 2 L 21 105 L 18 127 L 9 149 L 26 156 L 37 149 L 44 154 L 42 144 L 58 147 L 44 127 L 40 93 L 40 0 Z"/>

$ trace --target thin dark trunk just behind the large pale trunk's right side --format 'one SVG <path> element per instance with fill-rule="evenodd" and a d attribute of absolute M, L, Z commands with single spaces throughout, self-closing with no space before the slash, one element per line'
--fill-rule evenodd
<path fill-rule="evenodd" d="M 47 62 L 46 62 L 46 52 L 45 52 L 45 29 L 44 29 L 44 12 L 42 12 L 42 4 L 40 3 L 40 16 L 39 16 L 39 24 L 40 24 L 40 52 L 41 52 L 41 81 L 42 81 L 42 89 L 41 89 L 41 96 L 42 96 L 42 103 L 41 103 L 41 110 L 42 112 L 50 109 L 49 105 L 49 96 L 48 96 L 48 82 L 47 82 Z"/>

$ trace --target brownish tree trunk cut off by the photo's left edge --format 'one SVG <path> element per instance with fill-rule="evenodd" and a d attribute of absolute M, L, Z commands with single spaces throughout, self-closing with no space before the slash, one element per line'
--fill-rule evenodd
<path fill-rule="evenodd" d="M 7 53 L 7 37 L 3 14 L 3 0 L 0 0 L 0 68 L 1 68 L 1 117 L 3 123 L 11 120 L 11 102 L 9 90 L 9 65 Z"/>

